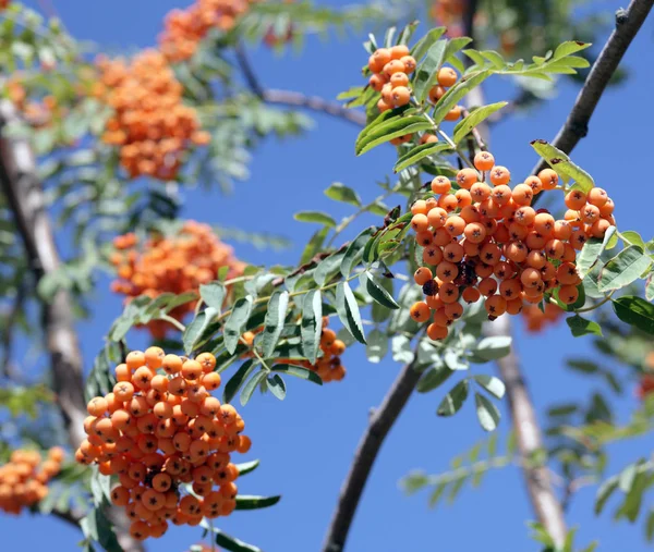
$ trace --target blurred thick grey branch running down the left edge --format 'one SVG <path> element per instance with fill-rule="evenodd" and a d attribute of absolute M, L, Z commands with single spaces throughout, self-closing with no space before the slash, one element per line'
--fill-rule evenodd
<path fill-rule="evenodd" d="M 8 124 L 17 121 L 14 106 L 8 100 L 0 101 L 0 185 L 38 284 L 41 278 L 60 269 L 61 259 L 29 144 L 24 138 L 8 138 L 3 132 Z M 57 403 L 71 444 L 76 449 L 85 438 L 86 404 L 83 358 L 70 305 L 68 291 L 58 290 L 49 303 L 41 302 L 41 321 Z M 143 552 L 142 544 L 132 539 L 128 531 L 130 520 L 124 511 L 110 508 L 108 515 L 116 524 L 124 552 Z"/>

